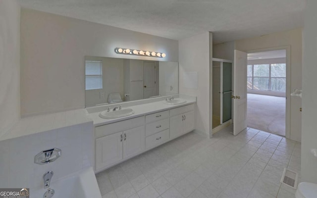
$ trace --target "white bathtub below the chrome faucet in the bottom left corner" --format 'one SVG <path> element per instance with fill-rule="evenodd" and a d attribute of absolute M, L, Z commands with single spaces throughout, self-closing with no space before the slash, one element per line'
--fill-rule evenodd
<path fill-rule="evenodd" d="M 51 183 L 52 198 L 102 198 L 92 167 Z M 32 191 L 30 198 L 43 198 L 47 189 Z"/>

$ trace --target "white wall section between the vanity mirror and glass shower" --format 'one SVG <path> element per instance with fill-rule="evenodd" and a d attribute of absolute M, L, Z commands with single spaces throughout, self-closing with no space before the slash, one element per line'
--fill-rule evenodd
<path fill-rule="evenodd" d="M 193 50 L 194 49 L 194 50 Z M 210 137 L 210 56 L 212 54 L 212 34 L 206 32 L 179 41 L 179 93 L 196 96 L 196 130 Z M 186 88 L 184 72 L 198 72 L 198 87 Z"/>

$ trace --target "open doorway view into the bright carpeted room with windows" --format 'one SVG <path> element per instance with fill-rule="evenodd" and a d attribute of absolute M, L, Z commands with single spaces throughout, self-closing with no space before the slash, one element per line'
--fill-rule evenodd
<path fill-rule="evenodd" d="M 248 127 L 285 137 L 286 63 L 286 49 L 248 53 Z"/>

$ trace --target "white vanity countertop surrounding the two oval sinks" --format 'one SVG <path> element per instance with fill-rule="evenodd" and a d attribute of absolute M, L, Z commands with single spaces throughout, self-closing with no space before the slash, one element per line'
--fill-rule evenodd
<path fill-rule="evenodd" d="M 196 102 L 195 97 L 186 98 L 185 100 L 186 100 L 186 103 L 176 104 L 176 105 L 165 104 L 162 102 L 163 100 L 160 100 L 160 101 L 155 101 L 155 102 L 151 102 L 151 103 L 138 104 L 138 105 L 134 105 L 134 106 L 124 106 L 124 107 L 131 108 L 134 111 L 134 114 L 120 117 L 120 118 L 113 118 L 113 119 L 101 118 L 101 117 L 99 117 L 100 112 L 90 113 L 89 115 L 94 121 L 94 126 L 97 127 L 97 126 L 102 126 L 102 125 L 110 124 L 113 122 L 127 120 L 127 119 L 131 119 L 131 118 L 135 118 L 135 117 L 140 117 L 143 115 L 156 113 L 159 111 L 164 111 L 164 110 L 168 110 L 168 109 L 172 109 L 172 108 L 176 108 L 176 107 L 180 107 L 180 106 L 186 106 L 188 104 L 193 104 Z"/>

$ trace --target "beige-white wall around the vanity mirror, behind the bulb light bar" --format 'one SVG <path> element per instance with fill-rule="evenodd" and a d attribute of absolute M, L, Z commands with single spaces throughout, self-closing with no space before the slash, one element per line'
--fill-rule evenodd
<path fill-rule="evenodd" d="M 120 55 L 114 48 L 165 52 Z M 178 41 L 35 10 L 21 10 L 21 115 L 85 106 L 84 56 L 178 61 Z"/>

